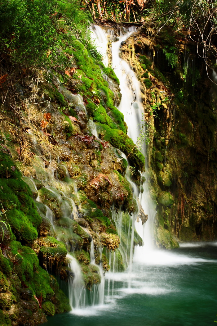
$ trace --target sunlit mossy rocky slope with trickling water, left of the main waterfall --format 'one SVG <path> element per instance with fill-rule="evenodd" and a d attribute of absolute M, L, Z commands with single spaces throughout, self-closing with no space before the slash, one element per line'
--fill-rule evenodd
<path fill-rule="evenodd" d="M 75 41 L 64 72 L 17 67 L 1 88 L 1 325 L 36 325 L 71 309 L 52 276 L 73 280 L 67 252 L 87 289 L 101 282 L 99 268 L 110 269 L 119 236 L 129 255 L 114 218 L 123 210 L 123 229 L 131 230 L 138 211 L 119 151 L 128 155 L 134 144 L 115 107 L 118 79 L 90 50 Z M 135 149 L 129 159 L 139 176 L 144 157 Z M 135 244 L 142 245 L 136 232 Z M 128 258 L 116 259 L 124 270 Z"/>

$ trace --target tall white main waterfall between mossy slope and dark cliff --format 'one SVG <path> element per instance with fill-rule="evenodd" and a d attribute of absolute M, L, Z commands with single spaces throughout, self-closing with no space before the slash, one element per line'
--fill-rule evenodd
<path fill-rule="evenodd" d="M 123 28 L 123 32 L 120 32 L 119 39 L 116 42 L 112 42 L 112 68 L 115 71 L 116 76 L 120 81 L 120 89 L 122 94 L 122 99 L 118 110 L 124 114 L 124 121 L 128 126 L 128 136 L 133 140 L 134 143 L 137 142 L 138 137 L 140 137 L 140 133 L 142 132 L 142 119 L 143 119 L 143 106 L 141 100 L 141 85 L 138 81 L 136 74 L 129 66 L 129 63 L 124 61 L 120 57 L 120 47 L 121 43 L 126 41 L 126 39 L 135 32 L 135 26 L 131 26 L 129 30 Z M 107 44 L 108 39 L 111 39 L 113 34 L 111 30 L 106 32 L 99 26 L 92 26 L 92 33 L 95 36 L 96 48 L 100 53 L 103 53 L 103 63 L 106 64 L 108 59 L 105 55 L 105 50 L 102 50 L 102 46 Z M 146 155 L 145 143 L 142 146 L 142 154 L 146 158 L 146 162 L 148 161 Z M 123 155 L 123 154 L 122 154 Z M 123 155 L 124 157 L 124 155 Z M 148 166 L 146 164 L 146 172 L 144 176 L 148 179 Z M 136 189 L 136 185 L 133 185 L 133 188 Z M 154 217 L 156 211 L 154 210 L 154 204 L 149 195 L 149 190 L 147 188 L 147 184 L 143 185 L 144 191 L 142 194 L 136 194 L 137 198 L 140 200 L 142 208 L 145 214 L 148 215 L 148 220 L 144 225 L 142 222 L 136 223 L 136 230 L 139 235 L 142 237 L 144 242 L 143 247 L 135 248 L 135 257 L 145 257 L 149 255 L 150 250 L 153 249 L 153 228 L 154 228 Z M 151 255 L 151 254 L 150 254 Z M 144 258 L 145 259 L 145 258 Z"/>

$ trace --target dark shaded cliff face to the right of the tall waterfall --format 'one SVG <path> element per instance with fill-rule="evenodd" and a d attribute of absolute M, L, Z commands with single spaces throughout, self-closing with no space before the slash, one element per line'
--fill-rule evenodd
<path fill-rule="evenodd" d="M 215 73 L 207 75 L 200 54 L 194 40 L 154 25 L 122 47 L 141 82 L 160 247 L 173 246 L 170 233 L 181 241 L 217 237 Z"/>

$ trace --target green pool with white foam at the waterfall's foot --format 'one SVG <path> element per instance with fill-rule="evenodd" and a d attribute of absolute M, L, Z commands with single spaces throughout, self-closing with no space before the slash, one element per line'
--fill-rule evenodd
<path fill-rule="evenodd" d="M 217 243 L 153 251 L 132 273 L 107 274 L 102 306 L 44 326 L 211 326 L 217 319 Z M 109 289 L 108 289 L 109 287 Z"/>

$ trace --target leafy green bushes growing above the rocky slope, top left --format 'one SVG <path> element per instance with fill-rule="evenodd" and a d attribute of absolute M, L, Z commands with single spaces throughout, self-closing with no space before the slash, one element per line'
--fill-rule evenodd
<path fill-rule="evenodd" d="M 1 51 L 10 56 L 13 63 L 64 67 L 68 61 L 64 48 L 75 35 L 88 45 L 88 21 L 88 15 L 80 10 L 76 0 L 3 0 Z"/>

